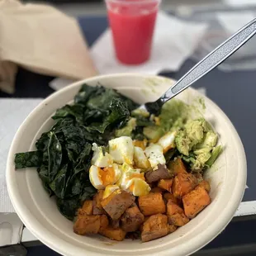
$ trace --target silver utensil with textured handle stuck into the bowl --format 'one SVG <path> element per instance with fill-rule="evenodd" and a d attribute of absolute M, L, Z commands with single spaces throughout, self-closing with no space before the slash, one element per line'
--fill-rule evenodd
<path fill-rule="evenodd" d="M 177 83 L 169 88 L 167 92 L 164 92 L 162 97 L 156 102 L 148 102 L 145 105 L 140 106 L 141 109 L 146 109 L 149 113 L 159 115 L 161 107 L 165 102 L 168 102 L 171 98 L 175 97 L 179 92 L 183 92 L 186 88 L 195 83 L 198 79 L 203 77 L 211 69 L 216 68 L 225 59 L 234 54 L 236 50 L 244 45 L 254 34 L 256 33 L 256 19 L 250 21 L 247 25 L 242 27 L 233 36 L 230 36 L 228 40 L 212 50 L 209 55 L 206 55 L 204 59 L 201 59 L 192 69 L 190 69 Z"/>

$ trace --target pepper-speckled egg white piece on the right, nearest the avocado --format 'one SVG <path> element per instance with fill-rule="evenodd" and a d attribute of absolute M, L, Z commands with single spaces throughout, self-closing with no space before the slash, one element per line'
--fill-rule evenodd
<path fill-rule="evenodd" d="M 149 159 L 151 167 L 155 170 L 159 164 L 166 164 L 164 149 L 160 145 L 151 144 L 145 149 L 145 155 Z"/>

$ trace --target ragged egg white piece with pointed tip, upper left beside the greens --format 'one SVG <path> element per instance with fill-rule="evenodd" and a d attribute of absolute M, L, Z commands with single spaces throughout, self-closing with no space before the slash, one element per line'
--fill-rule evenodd
<path fill-rule="evenodd" d="M 96 165 L 97 167 L 107 167 L 113 163 L 113 158 L 111 154 L 107 152 L 104 154 L 102 147 L 97 146 L 96 143 L 92 143 L 92 165 Z"/>

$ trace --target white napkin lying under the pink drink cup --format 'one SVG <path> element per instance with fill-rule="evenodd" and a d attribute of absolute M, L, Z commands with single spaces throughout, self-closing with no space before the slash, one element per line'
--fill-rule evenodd
<path fill-rule="evenodd" d="M 99 73 L 158 73 L 162 69 L 177 71 L 196 49 L 206 27 L 204 23 L 181 21 L 159 12 L 152 56 L 147 63 L 134 66 L 120 64 L 115 58 L 110 29 L 92 45 L 92 60 Z"/>

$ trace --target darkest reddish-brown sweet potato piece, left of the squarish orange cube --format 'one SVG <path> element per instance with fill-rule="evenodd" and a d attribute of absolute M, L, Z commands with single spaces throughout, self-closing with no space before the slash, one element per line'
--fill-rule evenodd
<path fill-rule="evenodd" d="M 138 206 L 134 205 L 126 209 L 121 216 L 121 229 L 126 232 L 134 232 L 139 229 L 144 221 L 144 215 L 140 212 Z"/>

